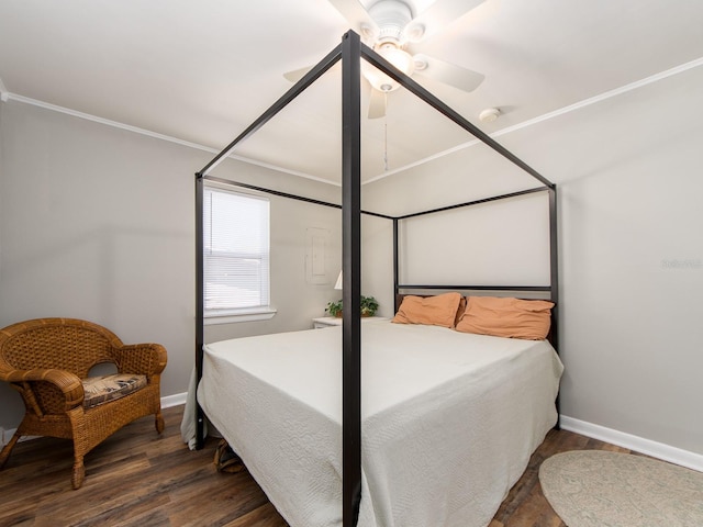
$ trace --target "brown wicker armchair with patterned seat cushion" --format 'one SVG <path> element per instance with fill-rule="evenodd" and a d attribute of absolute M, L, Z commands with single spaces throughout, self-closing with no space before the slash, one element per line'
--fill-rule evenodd
<path fill-rule="evenodd" d="M 108 386 L 92 396 L 96 390 L 89 393 L 88 385 L 96 379 L 86 379 L 93 366 L 103 362 L 131 374 L 126 377 L 135 381 L 134 391 L 114 394 L 110 393 L 114 386 Z M 125 346 L 109 329 L 86 321 L 38 318 L 0 329 L 0 380 L 20 392 L 25 406 L 22 423 L 0 452 L 0 469 L 21 436 L 72 439 L 71 484 L 79 489 L 83 456 L 111 434 L 150 414 L 156 416 L 156 431 L 164 430 L 159 381 L 165 367 L 161 345 Z"/>

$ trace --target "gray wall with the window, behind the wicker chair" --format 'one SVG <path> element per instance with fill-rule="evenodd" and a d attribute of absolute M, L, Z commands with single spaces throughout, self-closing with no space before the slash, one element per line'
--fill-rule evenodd
<path fill-rule="evenodd" d="M 234 133 L 234 132 L 233 132 Z M 64 316 L 125 343 L 157 341 L 164 396 L 187 390 L 194 346 L 193 175 L 212 154 L 10 100 L 0 104 L 0 327 Z M 223 178 L 335 201 L 339 189 L 226 160 Z M 311 327 L 337 296 L 341 213 L 271 199 L 267 322 L 208 326 L 209 339 Z M 308 227 L 331 232 L 331 283 L 305 280 Z M 0 383 L 0 427 L 23 406 Z"/>

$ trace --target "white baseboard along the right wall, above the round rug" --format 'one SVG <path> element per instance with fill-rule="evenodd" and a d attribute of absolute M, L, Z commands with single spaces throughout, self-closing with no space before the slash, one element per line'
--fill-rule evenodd
<path fill-rule="evenodd" d="M 687 467 L 689 469 L 703 472 L 703 455 L 690 452 L 681 448 L 665 445 L 663 442 L 652 441 L 643 437 L 633 436 L 624 431 L 613 430 L 604 426 L 587 423 L 585 421 L 574 419 L 566 415 L 560 416 L 559 424 L 565 430 L 581 434 L 600 441 L 610 442 L 618 447 L 627 448 L 636 452 L 651 456 L 670 463 Z"/>

